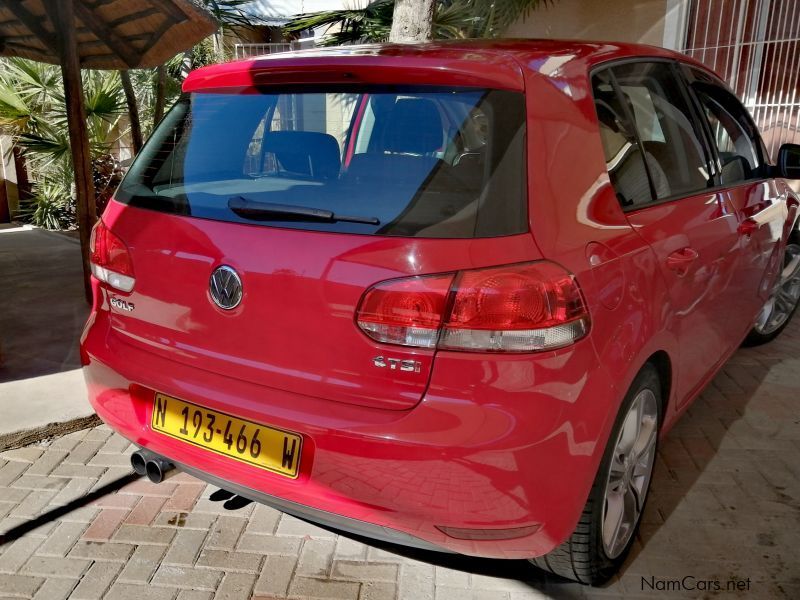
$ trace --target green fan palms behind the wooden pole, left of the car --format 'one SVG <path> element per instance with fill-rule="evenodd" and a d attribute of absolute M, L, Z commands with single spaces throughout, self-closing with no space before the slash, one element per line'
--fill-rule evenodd
<path fill-rule="evenodd" d="M 135 140 L 134 151 L 138 150 L 141 140 L 178 98 L 188 70 L 225 58 L 224 28 L 250 27 L 258 21 L 246 10 L 251 0 L 193 1 L 219 22 L 212 38 L 156 69 L 83 73 L 98 209 L 121 178 L 119 160 L 112 152 L 115 144 L 130 137 Z M 67 132 L 61 70 L 25 59 L 0 59 L 0 133 L 14 141 L 11 151 L 20 183 L 17 216 L 48 229 L 75 224 Z M 32 185 L 23 186 L 29 178 Z"/>

